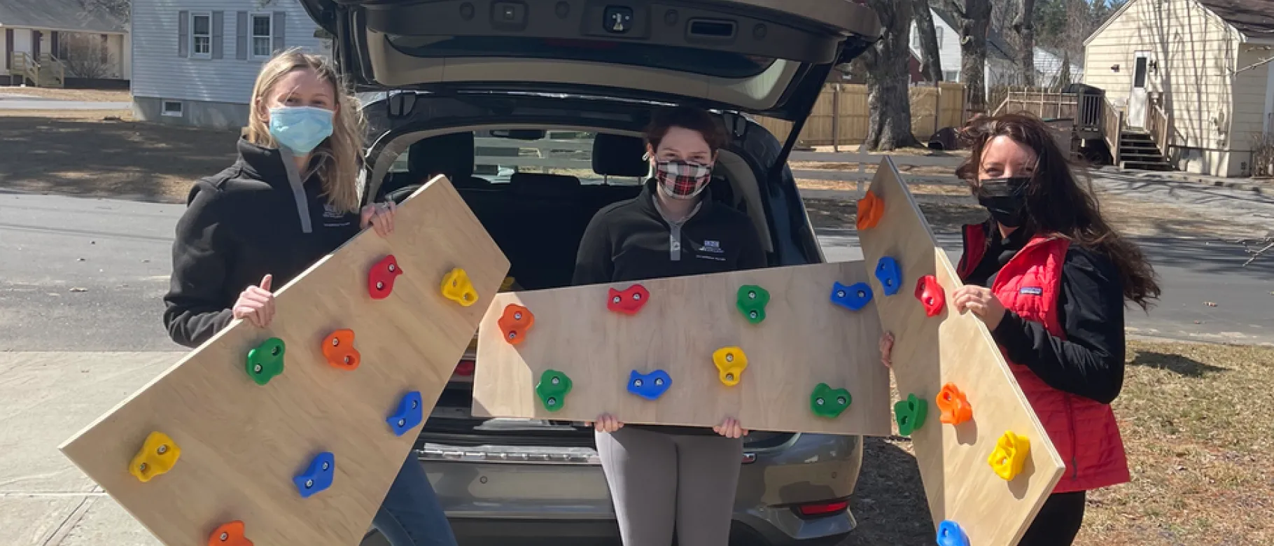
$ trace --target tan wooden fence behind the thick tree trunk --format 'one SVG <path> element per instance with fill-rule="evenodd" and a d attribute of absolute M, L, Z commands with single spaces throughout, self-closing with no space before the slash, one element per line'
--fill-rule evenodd
<path fill-rule="evenodd" d="M 939 129 L 959 126 L 966 120 L 964 85 L 943 81 L 938 87 L 908 88 L 911 132 L 925 140 Z M 805 121 L 799 143 L 804 146 L 856 145 L 868 136 L 868 87 L 827 84 Z M 780 141 L 791 132 L 791 122 L 759 117 L 757 121 Z"/>

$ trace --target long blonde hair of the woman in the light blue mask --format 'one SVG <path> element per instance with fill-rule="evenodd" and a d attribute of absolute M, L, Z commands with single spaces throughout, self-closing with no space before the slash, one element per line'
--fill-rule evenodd
<path fill-rule="evenodd" d="M 362 199 L 358 179 L 363 162 L 364 120 L 358 101 L 349 93 L 336 69 L 324 57 L 290 48 L 275 55 L 261 66 L 256 85 L 252 87 L 245 137 L 259 146 L 279 148 L 270 135 L 269 116 L 262 102 L 284 75 L 306 69 L 313 70 L 321 80 L 331 84 L 335 92 L 333 102 L 336 115 L 333 118 L 331 136 L 311 151 L 312 171 L 301 173 L 302 179 L 317 173 L 322 181 L 322 195 L 334 209 L 343 213 L 358 211 Z"/>

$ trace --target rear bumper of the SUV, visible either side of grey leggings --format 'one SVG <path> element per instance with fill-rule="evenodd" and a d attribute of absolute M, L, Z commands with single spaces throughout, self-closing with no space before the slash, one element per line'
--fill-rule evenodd
<path fill-rule="evenodd" d="M 426 443 L 420 461 L 457 538 L 468 543 L 618 543 L 606 479 L 590 448 L 452 448 Z M 804 545 L 855 527 L 848 510 L 817 518 L 792 508 L 845 499 L 862 462 L 859 437 L 798 434 L 747 451 L 735 500 L 735 535 Z"/>

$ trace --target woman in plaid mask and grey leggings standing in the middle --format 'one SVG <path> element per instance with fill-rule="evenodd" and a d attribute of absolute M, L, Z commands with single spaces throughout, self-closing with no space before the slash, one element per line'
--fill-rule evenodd
<path fill-rule="evenodd" d="M 651 177 L 641 193 L 598 211 L 580 242 L 573 284 L 628 283 L 767 266 L 747 214 L 708 190 L 729 135 L 708 112 L 661 111 L 646 130 Z M 738 420 L 707 428 L 624 426 L 599 415 L 601 468 L 626 546 L 726 546 L 743 462 Z"/>

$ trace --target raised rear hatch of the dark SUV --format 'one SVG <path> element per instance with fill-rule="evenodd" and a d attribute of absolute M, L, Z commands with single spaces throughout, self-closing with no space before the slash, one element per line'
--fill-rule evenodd
<path fill-rule="evenodd" d="M 301 0 L 362 92 L 564 93 L 795 121 L 880 33 L 851 0 Z"/>

